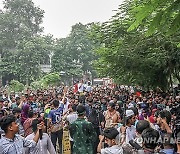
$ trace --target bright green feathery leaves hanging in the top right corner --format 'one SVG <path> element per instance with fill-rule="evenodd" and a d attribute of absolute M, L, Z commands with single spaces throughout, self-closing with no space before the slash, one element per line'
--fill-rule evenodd
<path fill-rule="evenodd" d="M 135 21 L 128 31 L 143 26 L 146 35 L 150 36 L 157 31 L 168 35 L 175 34 L 180 30 L 180 1 L 179 0 L 142 0 L 134 1 L 132 12 Z"/>

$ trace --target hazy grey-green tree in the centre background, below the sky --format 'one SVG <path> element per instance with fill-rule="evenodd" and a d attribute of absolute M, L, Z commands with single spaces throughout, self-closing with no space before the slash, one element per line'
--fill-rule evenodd
<path fill-rule="evenodd" d="M 78 23 L 72 26 L 70 35 L 56 42 L 52 58 L 53 71 L 64 71 L 67 76 L 82 77 L 93 70 L 92 61 L 96 59 L 93 52 L 97 46 L 89 38 L 91 24 Z"/>

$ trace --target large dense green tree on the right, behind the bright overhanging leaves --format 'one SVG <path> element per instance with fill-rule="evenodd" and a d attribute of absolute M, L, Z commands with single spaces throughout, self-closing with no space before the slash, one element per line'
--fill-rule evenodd
<path fill-rule="evenodd" d="M 138 30 L 128 31 L 137 19 L 134 11 L 139 12 L 141 5 L 144 3 L 135 5 L 126 0 L 111 20 L 94 26 L 91 36 L 101 43 L 96 50 L 100 58 L 94 65 L 101 77 L 112 77 L 118 83 L 166 90 L 172 78 L 180 81 L 180 50 L 176 46 L 179 33 L 167 36 L 158 32 L 147 37 L 147 31 L 139 23 L 134 24 Z M 153 9 L 150 6 L 139 13 L 139 20 L 143 22 Z"/>

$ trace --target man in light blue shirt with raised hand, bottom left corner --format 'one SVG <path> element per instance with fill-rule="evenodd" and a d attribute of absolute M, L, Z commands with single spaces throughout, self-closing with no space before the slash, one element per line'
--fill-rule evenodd
<path fill-rule="evenodd" d="M 14 115 L 8 115 L 2 118 L 0 126 L 5 132 L 5 135 L 0 139 L 1 154 L 20 154 L 24 153 L 24 147 L 35 148 L 40 137 L 39 130 L 43 127 L 39 125 L 33 140 L 27 140 L 17 134 L 19 132 L 19 127 Z"/>

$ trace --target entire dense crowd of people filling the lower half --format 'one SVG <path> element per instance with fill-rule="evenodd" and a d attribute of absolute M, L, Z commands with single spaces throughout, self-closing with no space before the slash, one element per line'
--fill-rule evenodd
<path fill-rule="evenodd" d="M 179 90 L 83 81 L 24 93 L 3 90 L 0 154 L 178 154 Z"/>

